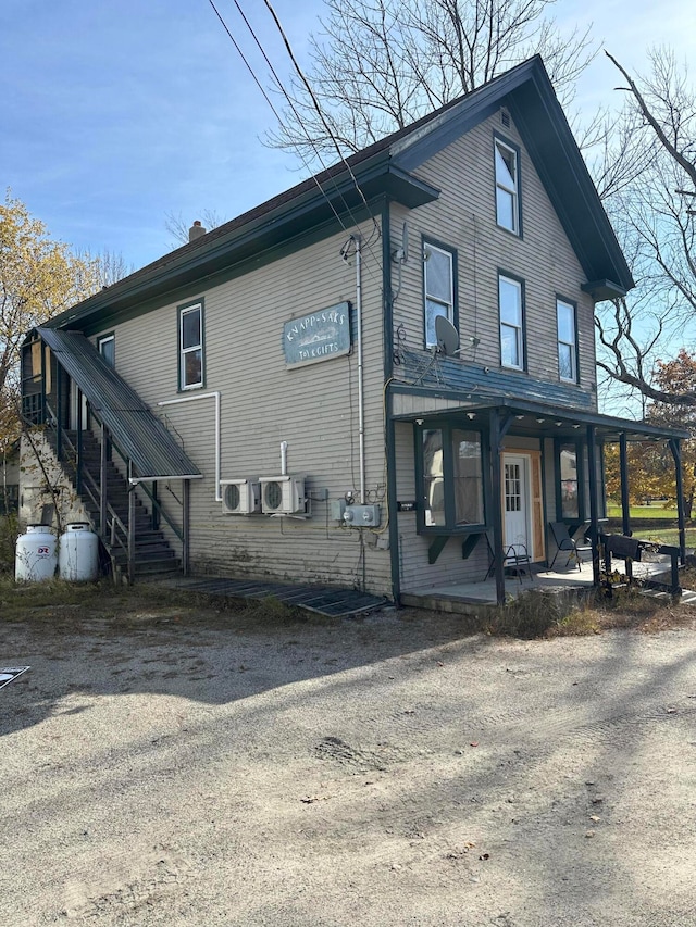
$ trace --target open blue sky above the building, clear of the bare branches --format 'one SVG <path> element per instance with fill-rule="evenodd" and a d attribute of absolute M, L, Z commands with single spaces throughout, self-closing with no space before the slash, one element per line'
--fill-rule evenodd
<path fill-rule="evenodd" d="M 216 5 L 263 79 L 266 66 L 233 0 Z M 263 0 L 240 0 L 283 76 L 289 63 Z M 321 0 L 275 0 L 300 61 Z M 559 0 L 564 27 L 594 35 L 630 68 L 667 43 L 695 60 L 692 0 Z M 304 176 L 259 140 L 274 116 L 208 0 L 3 0 L 0 185 L 51 235 L 109 249 L 135 267 L 166 252 L 169 212 L 233 218 Z M 598 58 L 579 103 L 616 100 Z"/>

